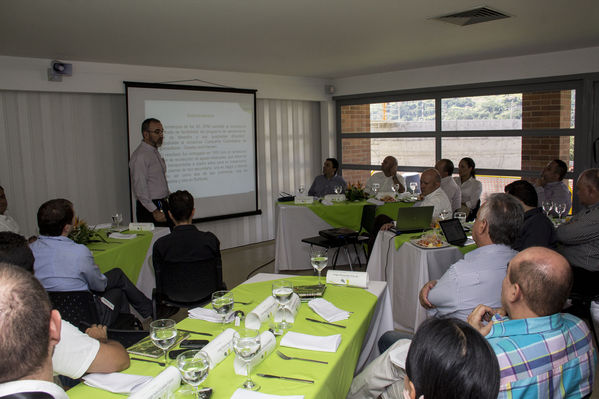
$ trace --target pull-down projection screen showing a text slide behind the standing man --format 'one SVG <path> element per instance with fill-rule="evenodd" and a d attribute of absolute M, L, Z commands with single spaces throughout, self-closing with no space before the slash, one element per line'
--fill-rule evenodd
<path fill-rule="evenodd" d="M 254 90 L 126 87 L 129 156 L 142 141 L 143 120 L 156 118 L 164 128 L 158 151 L 169 190 L 194 196 L 196 219 L 258 212 Z"/>

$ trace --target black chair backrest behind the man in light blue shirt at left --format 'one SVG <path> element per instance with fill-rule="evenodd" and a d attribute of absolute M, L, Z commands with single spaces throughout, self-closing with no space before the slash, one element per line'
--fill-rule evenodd
<path fill-rule="evenodd" d="M 89 291 L 48 292 L 54 309 L 69 323 L 82 326 L 99 323 L 94 296 Z"/>

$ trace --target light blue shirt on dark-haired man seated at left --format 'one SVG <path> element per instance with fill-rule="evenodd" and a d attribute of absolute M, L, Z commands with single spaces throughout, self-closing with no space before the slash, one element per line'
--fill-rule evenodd
<path fill-rule="evenodd" d="M 48 291 L 104 291 L 106 276 L 91 251 L 64 236 L 40 236 L 30 245 L 35 277 Z"/>

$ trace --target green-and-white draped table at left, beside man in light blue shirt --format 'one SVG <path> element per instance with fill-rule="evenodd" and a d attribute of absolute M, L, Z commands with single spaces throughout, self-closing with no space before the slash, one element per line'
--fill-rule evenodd
<path fill-rule="evenodd" d="M 114 268 L 121 268 L 141 292 L 152 297 L 152 289 L 156 287 L 156 278 L 152 267 L 152 248 L 160 237 L 169 234 L 168 227 L 156 227 L 154 231 L 124 232 L 133 235 L 132 239 L 107 237 L 107 229 L 98 229 L 98 233 L 107 242 L 94 241 L 87 245 L 92 251 L 94 261 L 102 273 Z"/>

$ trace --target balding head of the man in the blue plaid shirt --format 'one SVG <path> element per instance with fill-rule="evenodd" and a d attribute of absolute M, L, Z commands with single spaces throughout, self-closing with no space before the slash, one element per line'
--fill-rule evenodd
<path fill-rule="evenodd" d="M 572 287 L 572 270 L 562 255 L 543 247 L 518 253 L 508 266 L 508 279 L 518 284 L 528 308 L 537 316 L 559 313 Z"/>

